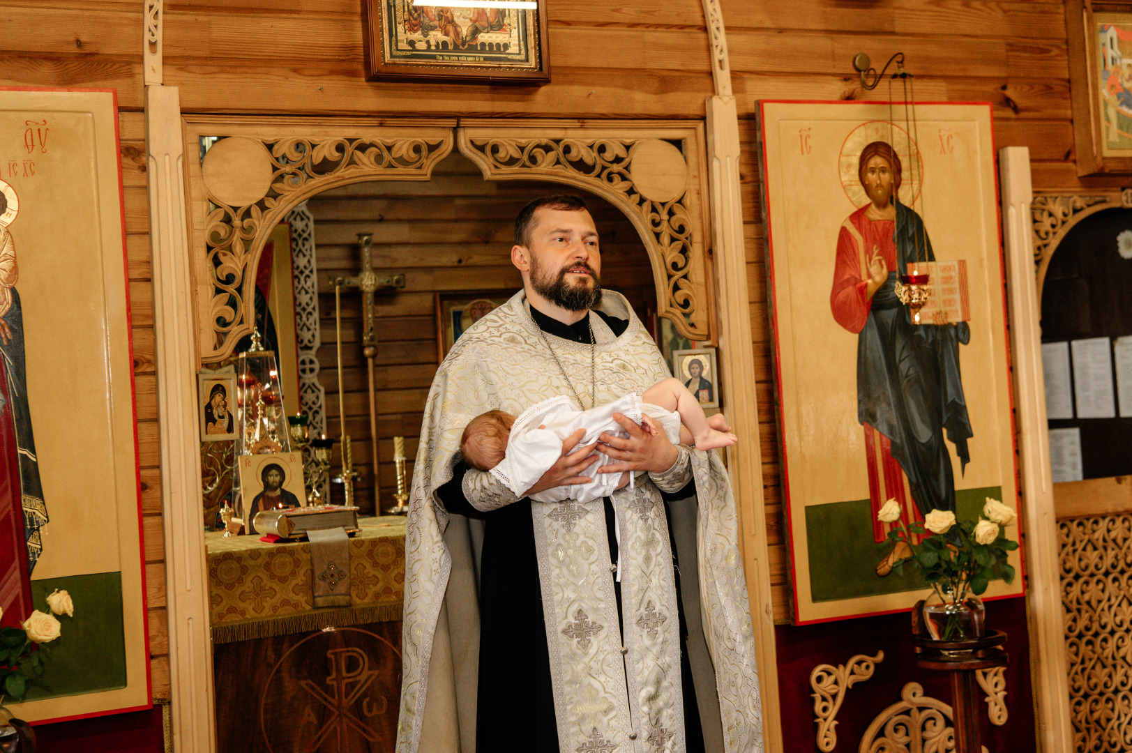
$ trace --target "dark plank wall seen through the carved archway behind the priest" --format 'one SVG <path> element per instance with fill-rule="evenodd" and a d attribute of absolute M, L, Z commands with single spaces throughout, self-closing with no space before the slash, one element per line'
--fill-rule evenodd
<path fill-rule="evenodd" d="M 370 182 L 337 188 L 310 199 L 315 217 L 321 348 L 319 378 L 326 388 L 327 436 L 337 437 L 337 356 L 334 293 L 329 281 L 358 274 L 358 233 L 374 234 L 374 266 L 404 272 L 405 288 L 376 293 L 379 489 L 381 507 L 396 491 L 393 437 L 405 437 L 408 473 L 417 455 L 424 400 L 438 363 L 435 297 L 456 291 L 509 291 L 522 285 L 511 264 L 513 222 L 537 196 L 583 191 L 540 181 L 484 181 L 479 168 L 453 153 L 429 182 Z M 601 236 L 602 285 L 624 293 L 642 319 L 655 310 L 649 256 L 620 211 L 585 195 Z M 651 308 L 650 308 L 651 307 Z M 346 433 L 353 442 L 358 504 L 374 511 L 372 437 L 361 293 L 342 293 L 342 378 Z M 334 462 L 338 461 L 335 445 Z M 337 491 L 334 491 L 337 494 Z"/>

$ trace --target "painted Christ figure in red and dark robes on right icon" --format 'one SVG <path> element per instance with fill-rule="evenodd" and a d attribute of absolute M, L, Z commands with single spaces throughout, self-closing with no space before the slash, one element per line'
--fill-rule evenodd
<path fill-rule="evenodd" d="M 883 541 L 876 513 L 889 498 L 900 503 L 906 523 L 933 510 L 955 510 L 944 433 L 966 469 L 971 423 L 959 344 L 970 342 L 971 331 L 966 322 L 949 324 L 946 318 L 912 324 L 897 298 L 898 275 L 917 262 L 934 262 L 935 254 L 924 221 L 900 203 L 902 169 L 895 151 L 885 142 L 866 145 L 858 178 L 869 203 L 841 225 L 830 306 L 837 323 L 859 335 L 857 418 L 865 429 L 873 532 Z M 877 574 L 887 575 L 907 554 L 907 546 L 895 547 Z"/>

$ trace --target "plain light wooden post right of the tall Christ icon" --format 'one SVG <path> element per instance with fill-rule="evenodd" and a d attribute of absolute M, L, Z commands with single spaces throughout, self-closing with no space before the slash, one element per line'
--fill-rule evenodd
<path fill-rule="evenodd" d="M 1020 510 L 1026 534 L 1027 610 L 1030 625 L 1030 669 L 1038 750 L 1073 750 L 1069 679 L 1065 676 L 1065 626 L 1061 601 L 1061 550 L 1049 470 L 1046 388 L 1041 368 L 1041 311 L 1034 274 L 1034 221 L 1030 151 L 1009 146 L 998 151 L 1002 229 L 1010 305 L 1010 336 L 1014 367 Z"/>

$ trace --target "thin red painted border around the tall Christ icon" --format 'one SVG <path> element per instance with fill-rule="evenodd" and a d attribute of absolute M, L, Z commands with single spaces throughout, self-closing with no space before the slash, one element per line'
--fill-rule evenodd
<path fill-rule="evenodd" d="M 763 156 L 763 164 L 762 164 L 763 185 L 762 185 L 762 196 L 763 196 L 763 200 L 766 203 L 766 255 L 767 255 L 769 262 L 770 262 L 767 264 L 769 269 L 766 272 L 767 280 L 770 280 L 770 290 L 767 291 L 767 299 L 769 299 L 769 302 L 770 302 L 771 332 L 772 332 L 772 336 L 774 339 L 774 342 L 773 342 L 773 345 L 774 345 L 774 378 L 775 378 L 774 391 L 775 391 L 777 396 L 778 396 L 778 405 L 779 407 L 782 405 L 782 393 L 781 393 L 781 384 L 782 384 L 782 353 L 779 350 L 778 299 L 777 299 L 778 288 L 775 285 L 775 279 L 774 279 L 774 233 L 771 231 L 771 212 L 770 212 L 771 198 L 770 198 L 770 195 L 769 195 L 769 192 L 766 190 L 766 187 L 770 185 L 770 179 L 769 179 L 767 173 L 766 173 L 766 113 L 765 113 L 765 106 L 767 104 L 843 104 L 843 103 L 844 103 L 843 100 L 825 100 L 825 101 L 820 101 L 820 100 L 758 100 L 758 128 L 760 128 L 760 131 L 762 134 L 762 140 L 763 140 L 763 154 L 762 154 L 762 156 Z M 886 102 L 855 102 L 855 104 L 887 104 L 887 103 Z M 894 102 L 892 102 L 892 104 L 906 104 L 906 103 L 902 102 L 902 101 L 901 102 L 895 102 L 894 101 Z M 993 155 L 993 159 L 994 159 L 994 165 L 995 165 L 995 169 L 994 169 L 994 173 L 995 173 L 994 174 L 995 205 L 1000 208 L 1000 211 L 998 211 L 998 219 L 997 219 L 997 225 L 998 225 L 998 269 L 1000 269 L 1000 277 L 1002 280 L 1002 302 L 1003 302 L 1002 313 L 1003 313 L 1003 322 L 1006 325 L 1005 328 L 1004 328 L 1004 334 L 1005 334 L 1005 337 L 1006 337 L 1006 343 L 1005 343 L 1006 344 L 1006 379 L 1007 379 L 1007 386 L 1009 386 L 1009 392 L 1010 392 L 1010 409 L 1011 409 L 1010 410 L 1010 416 L 1011 416 L 1011 418 L 1010 418 L 1010 425 L 1011 425 L 1011 446 L 1014 450 L 1014 452 L 1013 452 L 1013 460 L 1014 460 L 1014 489 L 1015 489 L 1015 494 L 1020 495 L 1021 485 L 1019 484 L 1019 479 L 1018 479 L 1018 438 L 1017 438 L 1017 436 L 1014 434 L 1014 396 L 1013 396 L 1014 393 L 1013 393 L 1013 379 L 1011 378 L 1011 371 L 1010 371 L 1010 369 L 1011 369 L 1011 362 L 1010 362 L 1010 328 L 1009 328 L 1007 309 L 1006 309 L 1006 285 L 1005 285 L 1006 277 L 1005 277 L 1005 269 L 1003 267 L 1003 256 L 1002 256 L 1002 206 L 1001 206 L 1001 199 L 998 197 L 998 155 L 995 152 L 995 143 L 994 143 L 994 109 L 993 109 L 993 103 L 990 103 L 990 102 L 911 102 L 911 103 L 908 103 L 908 104 L 917 104 L 917 105 L 928 105 L 928 104 L 983 105 L 983 106 L 986 106 L 990 111 L 990 151 L 992 151 L 992 155 Z M 786 419 L 783 417 L 781 408 L 778 411 L 778 427 L 779 427 L 779 436 L 783 439 L 782 442 L 779 443 L 779 453 L 780 453 L 780 457 L 781 457 L 781 460 L 780 460 L 780 469 L 781 469 L 780 470 L 780 474 L 782 477 L 781 478 L 782 497 L 786 500 L 786 510 L 787 510 L 786 525 L 787 525 L 787 533 L 789 536 L 790 587 L 794 589 L 794 593 L 797 594 L 798 593 L 798 571 L 797 571 L 797 566 L 795 565 L 795 559 L 797 558 L 797 553 L 795 551 L 795 544 L 794 544 L 794 541 L 795 541 L 795 539 L 794 539 L 794 515 L 792 515 L 792 505 L 790 504 L 790 473 L 789 473 L 789 464 L 788 464 L 788 461 L 787 461 L 787 443 L 784 442 L 784 438 L 786 438 Z M 1021 539 L 1022 539 L 1022 536 L 1021 536 L 1021 530 L 1022 530 L 1022 528 L 1021 528 L 1022 505 L 1021 505 L 1020 500 L 1015 500 L 1015 507 L 1018 508 L 1018 512 L 1019 512 L 1019 519 L 1018 519 L 1019 536 L 1018 536 L 1018 538 L 1019 538 L 1019 553 L 1021 553 L 1021 550 L 1022 550 L 1022 542 L 1021 542 Z M 988 597 L 988 598 L 984 599 L 984 601 L 995 601 L 995 600 L 998 600 L 998 599 L 1014 599 L 1014 598 L 1024 596 L 1026 594 L 1026 577 L 1024 577 L 1026 558 L 1024 557 L 1022 557 L 1021 564 L 1022 564 L 1022 568 L 1020 570 L 1019 573 L 1015 574 L 1015 577 L 1017 576 L 1021 576 L 1022 577 L 1022 581 L 1021 581 L 1022 591 L 1021 591 L 1021 593 L 1012 593 L 1012 594 L 1009 594 L 1009 596 L 998 596 L 998 597 Z M 866 613 L 861 613 L 861 614 L 857 614 L 857 615 L 848 615 L 848 616 L 842 616 L 842 617 L 823 617 L 823 618 L 820 618 L 820 619 L 805 619 L 804 621 L 799 616 L 798 599 L 795 598 L 795 599 L 792 599 L 792 601 L 794 601 L 794 624 L 795 625 L 816 625 L 818 623 L 838 622 L 838 621 L 841 621 L 841 619 L 856 619 L 857 617 L 876 617 L 878 615 L 892 615 L 892 614 L 900 614 L 900 613 L 911 611 L 911 607 L 906 607 L 906 608 L 902 608 L 902 609 L 889 609 L 889 610 L 882 610 L 882 611 L 866 611 Z"/>

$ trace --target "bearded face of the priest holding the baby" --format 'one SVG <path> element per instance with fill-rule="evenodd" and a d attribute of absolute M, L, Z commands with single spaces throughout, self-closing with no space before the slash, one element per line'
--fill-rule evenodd
<path fill-rule="evenodd" d="M 589 212 L 542 207 L 530 237 L 524 272 L 534 292 L 567 311 L 584 311 L 601 300 L 598 229 Z"/>

